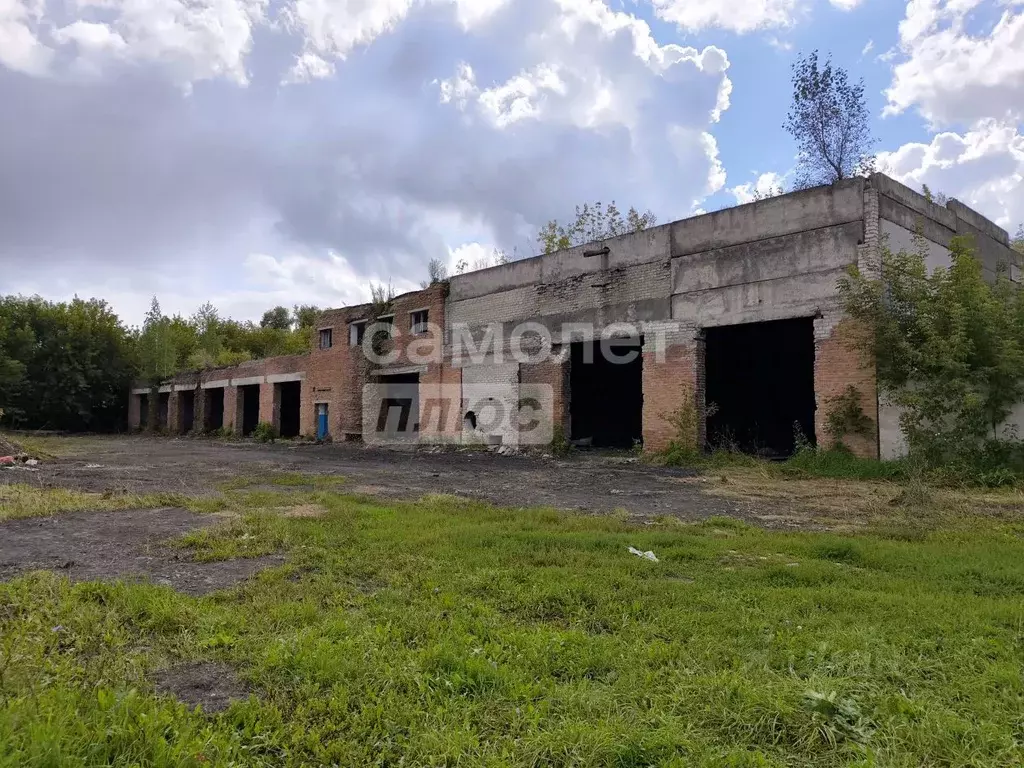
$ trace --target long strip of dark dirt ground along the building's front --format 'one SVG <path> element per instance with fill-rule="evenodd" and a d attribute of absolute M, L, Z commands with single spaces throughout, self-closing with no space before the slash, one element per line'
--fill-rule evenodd
<path fill-rule="evenodd" d="M 205 494 L 238 476 L 269 472 L 339 475 L 348 493 L 400 499 L 454 494 L 504 507 L 555 507 L 633 516 L 758 518 L 769 510 L 709 496 L 690 470 L 629 456 L 569 459 L 487 452 L 386 451 L 353 444 L 260 444 L 194 438 L 75 438 L 38 472 L 2 472 L 0 482 L 91 492 Z"/>

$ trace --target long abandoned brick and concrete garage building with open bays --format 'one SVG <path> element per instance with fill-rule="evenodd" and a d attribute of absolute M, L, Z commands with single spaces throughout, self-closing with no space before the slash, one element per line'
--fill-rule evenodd
<path fill-rule="evenodd" d="M 417 440 L 478 439 L 481 400 L 515 414 L 534 398 L 549 438 L 656 451 L 674 436 L 666 416 L 690 402 L 708 443 L 786 455 L 798 433 L 826 440 L 829 401 L 852 386 L 873 427 L 846 442 L 890 458 L 904 451 L 899 414 L 850 343 L 837 285 L 850 265 L 877 273 L 883 245 L 912 248 L 914 232 L 932 267 L 971 236 L 986 273 L 1009 265 L 1018 278 L 1006 230 L 874 174 L 460 274 L 383 312 L 332 309 L 309 354 L 136 388 L 130 422 L 367 439 L 393 389 L 414 393 Z M 387 359 L 365 353 L 374 323 L 391 329 L 375 347 Z M 602 339 L 615 360 L 595 349 Z M 437 408 L 452 392 L 454 413 Z M 514 419 L 488 429 L 492 442 L 524 441 Z"/>

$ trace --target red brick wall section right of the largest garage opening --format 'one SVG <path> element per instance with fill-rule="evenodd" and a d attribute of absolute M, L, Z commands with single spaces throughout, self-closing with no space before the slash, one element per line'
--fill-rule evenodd
<path fill-rule="evenodd" d="M 867 435 L 847 435 L 843 442 L 856 456 L 879 457 L 879 397 L 873 362 L 856 348 L 865 330 L 849 318 L 824 317 L 814 322 L 814 432 L 817 444 L 828 447 L 833 437 L 827 431 L 829 399 L 853 386 L 860 392 L 860 406 L 871 420 Z"/>

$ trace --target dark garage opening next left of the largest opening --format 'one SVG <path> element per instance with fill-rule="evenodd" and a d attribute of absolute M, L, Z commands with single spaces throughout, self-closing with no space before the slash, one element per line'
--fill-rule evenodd
<path fill-rule="evenodd" d="M 642 338 L 571 345 L 571 440 L 594 447 L 630 449 L 643 439 L 642 349 Z"/>

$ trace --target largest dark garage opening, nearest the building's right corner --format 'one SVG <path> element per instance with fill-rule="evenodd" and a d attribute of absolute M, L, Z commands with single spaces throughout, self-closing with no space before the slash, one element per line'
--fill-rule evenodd
<path fill-rule="evenodd" d="M 708 329 L 708 444 L 786 458 L 798 434 L 814 441 L 814 321 Z"/>

